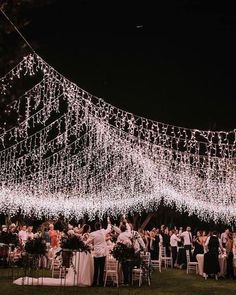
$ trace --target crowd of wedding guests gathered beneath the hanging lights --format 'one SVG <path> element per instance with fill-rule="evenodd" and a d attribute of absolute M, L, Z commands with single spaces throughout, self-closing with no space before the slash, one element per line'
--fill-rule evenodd
<path fill-rule="evenodd" d="M 161 225 L 160 228 L 152 228 L 150 231 L 143 229 L 136 231 L 133 229 L 132 223 L 128 222 L 125 217 L 121 218 L 118 226 L 112 225 L 108 219 L 106 229 L 102 228 L 100 222 L 96 222 L 93 231 L 88 224 L 82 226 L 68 224 L 64 230 L 55 229 L 53 223 L 48 223 L 47 226 L 44 225 L 39 229 L 34 229 L 32 226 L 10 224 L 0 227 L 0 245 L 8 244 L 12 251 L 20 253 L 24 250 L 27 240 L 40 235 L 48 248 L 58 249 L 65 234 L 78 236 L 93 250 L 93 285 L 103 285 L 105 259 L 117 243 L 132 246 L 135 253 L 150 252 L 151 260 L 159 260 L 160 249 L 164 248 L 165 255 L 172 258 L 172 267 L 174 268 L 186 267 L 186 251 L 189 251 L 191 261 L 196 261 L 197 254 L 204 254 L 204 271 L 208 274 L 219 272 L 218 256 L 220 253 L 224 253 L 227 257 L 226 277 L 235 277 L 233 258 L 236 255 L 236 233 L 231 232 L 229 228 L 226 228 L 223 233 L 204 230 L 192 232 L 189 226 L 185 229 L 182 227 L 169 229 L 167 226 Z M 180 249 L 184 251 L 180 251 Z M 128 285 L 130 281 L 125 264 L 122 269 L 124 284 Z"/>

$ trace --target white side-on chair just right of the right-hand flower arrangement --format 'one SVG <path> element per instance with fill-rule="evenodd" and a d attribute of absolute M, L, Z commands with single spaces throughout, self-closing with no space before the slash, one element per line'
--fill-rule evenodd
<path fill-rule="evenodd" d="M 146 252 L 140 255 L 141 266 L 139 268 L 134 268 L 132 270 L 132 285 L 134 281 L 139 281 L 139 287 L 141 287 L 143 280 L 146 280 L 148 285 L 151 284 L 150 278 L 150 266 L 151 266 L 151 256 L 150 252 Z"/>

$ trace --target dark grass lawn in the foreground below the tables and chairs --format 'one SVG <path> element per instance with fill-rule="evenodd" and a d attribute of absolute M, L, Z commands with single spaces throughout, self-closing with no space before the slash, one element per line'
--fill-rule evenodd
<path fill-rule="evenodd" d="M 208 279 L 195 274 L 186 274 L 186 270 L 163 270 L 154 272 L 151 287 L 144 284 L 136 287 L 106 287 L 106 288 L 78 288 L 78 287 L 42 287 L 17 286 L 12 284 L 8 269 L 0 269 L 0 295 L 235 295 L 236 280 Z"/>

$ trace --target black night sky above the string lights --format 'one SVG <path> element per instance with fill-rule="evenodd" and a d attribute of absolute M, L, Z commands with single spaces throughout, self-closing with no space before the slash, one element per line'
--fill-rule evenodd
<path fill-rule="evenodd" d="M 67 78 L 115 106 L 232 130 L 236 13 L 225 2 L 55 1 L 30 11 L 23 33 Z"/>

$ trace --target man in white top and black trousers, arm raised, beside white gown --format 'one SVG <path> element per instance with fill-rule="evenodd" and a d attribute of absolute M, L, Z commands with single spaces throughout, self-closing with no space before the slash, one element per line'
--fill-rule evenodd
<path fill-rule="evenodd" d="M 94 276 L 93 286 L 97 285 L 99 277 L 99 285 L 103 286 L 103 275 L 106 256 L 109 254 L 108 246 L 106 243 L 106 234 L 111 231 L 111 225 L 108 224 L 107 229 L 103 229 L 100 222 L 95 223 L 95 231 L 89 235 L 87 244 L 92 243 L 94 247 Z"/>

